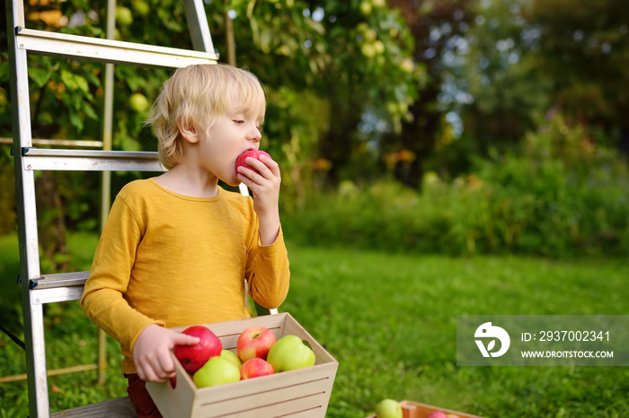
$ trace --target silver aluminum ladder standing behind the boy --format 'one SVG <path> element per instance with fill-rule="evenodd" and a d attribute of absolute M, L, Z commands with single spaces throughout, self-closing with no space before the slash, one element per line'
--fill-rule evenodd
<path fill-rule="evenodd" d="M 184 0 L 194 50 L 164 48 L 67 35 L 25 27 L 22 1 L 6 2 L 9 44 L 13 158 L 22 278 L 22 315 L 31 417 L 48 417 L 49 390 L 44 339 L 43 305 L 79 300 L 89 272 L 45 274 L 40 272 L 40 248 L 35 203 L 36 170 L 163 171 L 157 152 L 111 150 L 62 150 L 33 147 L 27 55 L 69 58 L 110 65 L 176 68 L 192 64 L 216 64 L 208 19 L 202 0 Z M 110 1 L 108 20 L 115 2 Z M 111 23 L 113 24 L 113 23 Z M 106 69 L 105 74 L 108 71 Z M 105 129 L 107 129 L 105 123 Z M 111 124 L 110 124 L 111 129 Z M 241 193 L 248 195 L 244 185 Z M 84 405 L 53 416 L 135 416 L 128 397 Z"/>

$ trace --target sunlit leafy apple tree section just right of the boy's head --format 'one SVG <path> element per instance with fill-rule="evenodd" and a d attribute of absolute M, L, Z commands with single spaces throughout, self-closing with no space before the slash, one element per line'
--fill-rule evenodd
<path fill-rule="evenodd" d="M 421 87 L 412 38 L 399 13 L 383 0 L 232 5 L 246 6 L 246 20 L 235 21 L 239 64 L 270 86 L 269 114 L 278 112 L 265 132 L 276 135 L 287 154 L 297 160 L 301 154 L 302 169 L 306 154 L 319 161 L 310 168 L 324 169 L 328 185 L 355 179 L 367 160 L 381 155 L 379 149 L 370 158 L 364 152 L 378 135 L 360 132 L 366 113 L 399 126 Z M 305 112 L 297 116 L 282 103 Z"/>

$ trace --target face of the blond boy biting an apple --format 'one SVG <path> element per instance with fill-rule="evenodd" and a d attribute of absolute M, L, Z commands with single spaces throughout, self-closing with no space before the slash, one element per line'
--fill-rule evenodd
<path fill-rule="evenodd" d="M 208 137 L 200 138 L 200 165 L 228 185 L 236 186 L 240 183 L 235 173 L 238 155 L 257 150 L 260 140 L 259 122 L 251 116 L 240 114 L 217 118 Z"/>

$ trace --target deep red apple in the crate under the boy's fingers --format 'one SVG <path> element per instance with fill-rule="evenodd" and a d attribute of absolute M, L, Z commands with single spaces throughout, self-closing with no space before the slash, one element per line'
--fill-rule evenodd
<path fill-rule="evenodd" d="M 188 327 L 182 331 L 182 334 L 199 337 L 198 344 L 175 345 L 173 349 L 174 356 L 182 363 L 183 369 L 190 374 L 194 374 L 210 357 L 220 355 L 223 350 L 223 344 L 208 327 L 201 325 Z"/>

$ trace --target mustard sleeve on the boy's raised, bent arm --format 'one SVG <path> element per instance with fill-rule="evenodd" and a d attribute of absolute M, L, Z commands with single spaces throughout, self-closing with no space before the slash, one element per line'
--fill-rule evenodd
<path fill-rule="evenodd" d="M 269 246 L 262 246 L 256 229 L 254 249 L 247 260 L 249 296 L 267 309 L 279 307 L 288 295 L 290 270 L 284 234 L 279 228 L 278 238 Z"/>

